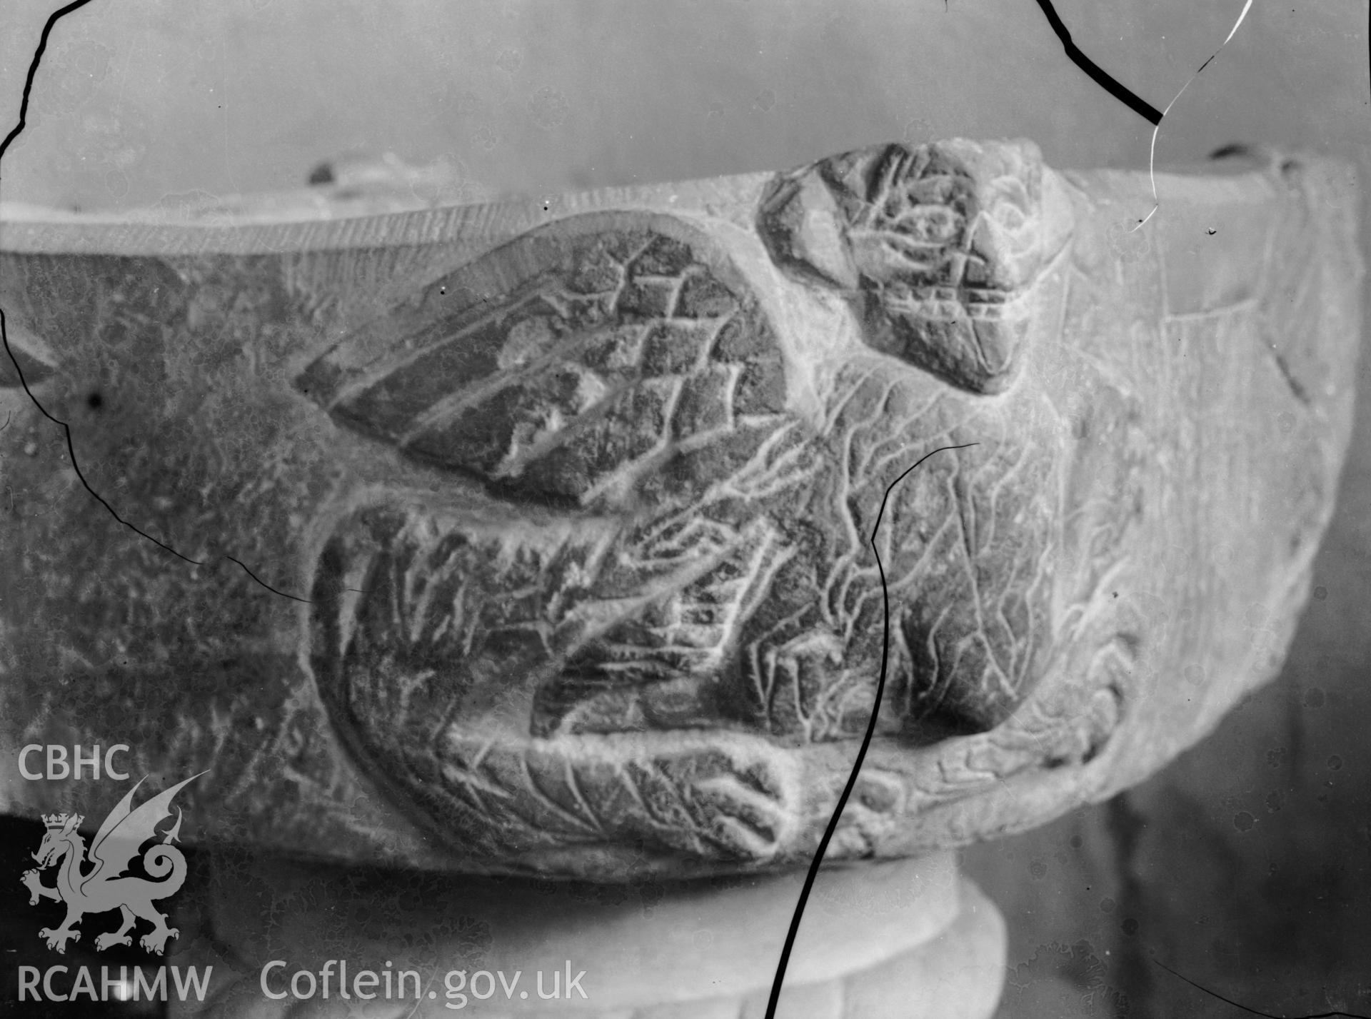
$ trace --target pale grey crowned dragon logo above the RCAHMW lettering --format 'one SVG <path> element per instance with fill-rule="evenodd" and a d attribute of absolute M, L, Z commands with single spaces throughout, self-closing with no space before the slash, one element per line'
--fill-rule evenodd
<path fill-rule="evenodd" d="M 103 950 L 111 945 L 130 945 L 133 939 L 129 930 L 143 919 L 152 924 L 152 930 L 144 934 L 138 944 L 148 952 L 162 955 L 167 938 L 177 937 L 180 931 L 167 927 L 166 915 L 158 912 L 152 901 L 175 894 L 185 882 L 185 856 L 171 845 L 180 839 L 181 808 L 177 808 L 175 824 L 167 831 L 159 832 L 156 827 L 171 816 L 171 798 L 200 775 L 192 775 L 134 808 L 133 794 L 144 782 L 138 779 L 118 806 L 110 811 L 110 816 L 95 834 L 89 850 L 89 863 L 93 867 L 85 872 L 82 867 L 88 852 L 80 832 L 84 817 L 80 813 L 44 815 L 48 831 L 38 845 L 38 852 L 33 854 L 38 865 L 25 871 L 21 880 L 29 889 L 29 905 L 37 905 L 40 898 L 55 898 L 67 904 L 67 918 L 60 927 L 56 930 L 44 927 L 38 931 L 38 937 L 48 942 L 48 948 L 66 952 L 67 941 L 81 939 L 81 931 L 75 930 L 75 926 L 82 916 L 118 909 L 122 916 L 119 930 L 97 935 L 95 946 Z M 137 856 L 143 845 L 159 837 L 162 841 L 148 846 L 143 853 L 143 870 L 152 879 L 126 874 L 129 861 Z M 58 883 L 43 885 L 38 872 L 53 865 L 58 867 Z"/>

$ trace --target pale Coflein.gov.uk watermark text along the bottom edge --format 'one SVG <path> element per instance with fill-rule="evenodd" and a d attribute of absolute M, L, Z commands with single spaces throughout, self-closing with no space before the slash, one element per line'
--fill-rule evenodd
<path fill-rule="evenodd" d="M 414 1000 L 436 998 L 439 992 L 432 986 L 425 986 L 418 970 L 395 970 L 389 960 L 381 970 L 354 970 L 348 979 L 348 964 L 343 959 L 329 959 L 319 967 L 318 972 L 311 970 L 295 970 L 289 976 L 284 972 L 288 963 L 284 959 L 273 959 L 262 967 L 262 993 L 269 998 L 293 997 L 298 1001 L 307 1001 L 315 996 L 321 998 L 381 998 L 385 1001 L 399 1001 L 407 997 Z M 566 979 L 562 979 L 562 975 Z M 446 1008 L 466 1008 L 472 998 L 485 1001 L 503 994 L 506 1000 L 529 998 L 531 989 L 544 1001 L 572 1000 L 573 992 L 580 998 L 588 998 L 581 981 L 585 971 L 572 975 L 572 961 L 568 959 L 563 970 L 544 972 L 536 970 L 525 976 L 522 970 L 515 970 L 513 976 L 503 970 L 491 972 L 477 970 L 468 974 L 466 970 L 448 970 L 443 975 L 443 1003 Z M 429 985 L 433 981 L 429 979 Z M 522 983 L 522 986 L 520 986 Z"/>

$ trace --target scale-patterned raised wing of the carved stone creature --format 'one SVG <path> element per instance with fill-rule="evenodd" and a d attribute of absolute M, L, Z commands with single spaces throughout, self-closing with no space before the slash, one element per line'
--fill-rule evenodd
<path fill-rule="evenodd" d="M 755 448 L 779 424 L 769 340 L 717 241 L 669 215 L 592 213 L 430 283 L 296 387 L 339 424 L 515 501 L 622 509 L 669 485 L 669 462 L 676 483 L 709 484 L 691 451 Z"/>

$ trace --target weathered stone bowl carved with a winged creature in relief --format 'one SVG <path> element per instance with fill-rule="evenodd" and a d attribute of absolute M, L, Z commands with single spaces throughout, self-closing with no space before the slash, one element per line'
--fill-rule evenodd
<path fill-rule="evenodd" d="M 951 141 L 555 218 L 7 225 L 33 395 L 202 565 L 85 491 L 7 363 L 0 749 L 210 768 L 188 837 L 784 867 L 888 592 L 834 856 L 1105 797 L 1270 678 L 1302 603 L 1360 329 L 1342 181 L 1165 177 L 1130 232 L 1145 174 Z"/>

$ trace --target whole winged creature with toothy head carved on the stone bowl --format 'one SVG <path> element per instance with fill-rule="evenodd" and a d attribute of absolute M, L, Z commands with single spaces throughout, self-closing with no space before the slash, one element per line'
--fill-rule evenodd
<path fill-rule="evenodd" d="M 702 760 L 673 741 L 865 728 L 883 653 L 876 509 L 909 464 L 971 442 L 891 506 L 884 728 L 1008 717 L 1046 661 L 1050 464 L 1015 436 L 1047 413 L 984 394 L 1019 370 L 1016 288 L 1053 252 L 1024 226 L 1036 165 L 958 152 L 890 147 L 779 178 L 751 239 L 636 210 L 551 222 L 415 284 L 296 379 L 340 442 L 432 472 L 341 507 L 314 579 L 315 676 L 387 772 L 489 828 L 506 779 L 483 769 L 540 772 L 528 734 L 603 738 L 583 798 L 633 775 L 631 795 L 670 800 L 677 772 L 696 775 L 709 802 L 640 834 L 768 856 L 798 793 L 760 745 Z M 987 208 L 976 174 L 997 181 Z M 777 273 L 831 296 L 787 307 Z M 620 734 L 664 750 L 646 769 L 611 763 Z M 435 758 L 448 767 L 429 775 Z M 548 812 L 599 837 L 565 806 Z M 496 827 L 550 823 L 525 822 Z"/>

